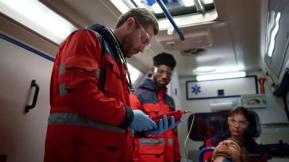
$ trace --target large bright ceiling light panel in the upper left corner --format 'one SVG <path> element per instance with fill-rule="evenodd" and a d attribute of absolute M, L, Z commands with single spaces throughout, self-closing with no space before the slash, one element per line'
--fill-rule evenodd
<path fill-rule="evenodd" d="M 0 0 L 0 8 L 11 19 L 58 44 L 77 30 L 72 23 L 38 0 Z"/>

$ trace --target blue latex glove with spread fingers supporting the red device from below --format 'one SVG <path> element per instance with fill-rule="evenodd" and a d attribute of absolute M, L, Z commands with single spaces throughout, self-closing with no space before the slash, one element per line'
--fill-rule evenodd
<path fill-rule="evenodd" d="M 164 122 L 164 123 L 163 123 Z M 166 115 L 159 122 L 159 127 L 157 129 L 145 131 L 148 135 L 161 135 L 167 130 L 174 128 L 177 124 L 181 123 L 182 120 L 174 121 L 174 117 L 170 117 L 170 124 Z"/>

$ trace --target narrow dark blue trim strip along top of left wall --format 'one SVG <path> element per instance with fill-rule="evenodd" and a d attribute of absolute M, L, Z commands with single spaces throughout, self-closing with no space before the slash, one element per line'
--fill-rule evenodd
<path fill-rule="evenodd" d="M 42 53 L 40 51 L 37 51 L 36 49 L 31 48 L 31 47 L 23 44 L 20 41 L 16 41 L 16 40 L 14 40 L 14 39 L 12 39 L 12 38 L 10 38 L 10 37 L 2 34 L 2 33 L 0 33 L 0 38 L 2 38 L 3 40 L 6 40 L 6 41 L 10 41 L 11 43 L 16 44 L 16 45 L 18 45 L 18 46 L 20 46 L 20 47 L 22 47 L 22 48 L 24 48 L 24 49 L 26 49 L 26 50 L 28 50 L 30 52 L 33 52 L 33 53 L 35 53 L 35 54 L 37 54 L 37 55 L 39 55 L 39 56 L 41 56 L 41 57 L 43 57 L 43 58 L 45 58 L 45 59 L 47 59 L 49 61 L 52 61 L 52 62 L 55 61 L 54 58 L 52 58 L 52 57 L 50 57 L 50 56 L 48 56 L 48 55 L 46 55 L 46 54 L 44 54 L 44 53 Z"/>

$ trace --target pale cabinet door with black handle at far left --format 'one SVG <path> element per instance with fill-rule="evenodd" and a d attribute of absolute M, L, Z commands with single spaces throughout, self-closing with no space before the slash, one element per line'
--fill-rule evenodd
<path fill-rule="evenodd" d="M 0 155 L 7 162 L 43 162 L 53 62 L 0 38 Z M 36 80 L 40 90 L 32 104 Z"/>

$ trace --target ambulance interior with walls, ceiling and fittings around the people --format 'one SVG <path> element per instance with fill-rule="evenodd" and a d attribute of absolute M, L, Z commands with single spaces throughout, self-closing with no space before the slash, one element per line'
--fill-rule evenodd
<path fill-rule="evenodd" d="M 0 0 L 0 162 L 43 161 L 58 45 L 89 24 L 113 29 L 134 7 L 151 10 L 160 31 L 149 49 L 127 59 L 133 83 L 148 77 L 155 55 L 172 54 L 177 65 L 167 93 L 177 110 L 195 115 L 183 115 L 178 126 L 183 160 L 187 151 L 198 162 L 205 140 L 226 132 L 228 112 L 243 106 L 267 161 L 289 161 L 288 0 Z M 217 74 L 225 77 L 202 78 Z M 37 103 L 25 112 L 32 80 Z"/>

